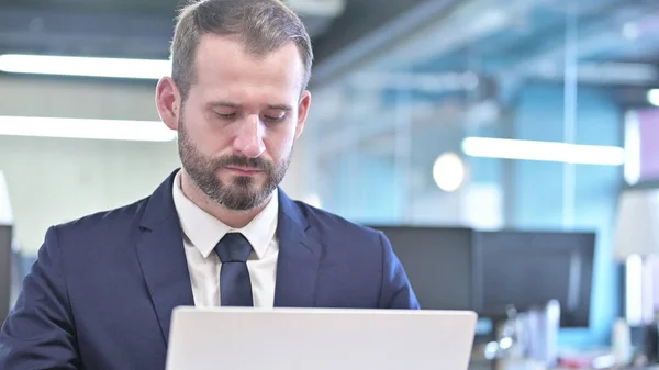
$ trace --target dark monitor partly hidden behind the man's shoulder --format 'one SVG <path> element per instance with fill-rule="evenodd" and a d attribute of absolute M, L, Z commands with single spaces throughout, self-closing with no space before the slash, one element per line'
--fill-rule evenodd
<path fill-rule="evenodd" d="M 473 231 L 462 227 L 370 226 L 384 233 L 423 310 L 474 310 Z"/>

